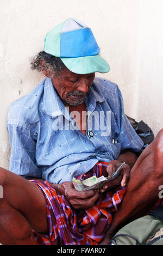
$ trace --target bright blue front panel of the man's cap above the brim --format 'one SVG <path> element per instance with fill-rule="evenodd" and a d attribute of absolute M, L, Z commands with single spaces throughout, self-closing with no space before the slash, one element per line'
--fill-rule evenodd
<path fill-rule="evenodd" d="M 60 57 L 76 58 L 99 54 L 99 47 L 90 28 L 61 34 Z"/>

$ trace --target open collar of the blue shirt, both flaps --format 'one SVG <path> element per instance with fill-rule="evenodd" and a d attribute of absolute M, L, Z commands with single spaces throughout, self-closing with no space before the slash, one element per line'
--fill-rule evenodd
<path fill-rule="evenodd" d="M 85 96 L 85 103 L 87 111 L 93 112 L 96 108 L 96 102 L 104 102 L 104 98 L 96 92 L 94 89 L 94 83 L 92 84 L 89 92 Z M 58 117 L 59 115 L 64 115 L 68 120 L 71 120 L 71 115 L 64 103 L 57 94 L 51 78 L 47 77 L 44 84 L 42 111 L 51 117 Z"/>

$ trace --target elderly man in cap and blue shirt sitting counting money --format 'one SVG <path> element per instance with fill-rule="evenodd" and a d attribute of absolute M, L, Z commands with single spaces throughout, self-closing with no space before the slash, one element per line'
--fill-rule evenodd
<path fill-rule="evenodd" d="M 161 204 L 162 131 L 137 159 L 143 143 L 124 115 L 121 92 L 95 78 L 109 65 L 91 29 L 76 19 L 47 33 L 32 69 L 47 78 L 9 108 L 11 159 L 10 171 L 0 172 L 0 242 L 108 244 L 121 225 Z M 101 190 L 74 188 L 73 176 L 106 176 L 122 162 L 121 174 Z"/>

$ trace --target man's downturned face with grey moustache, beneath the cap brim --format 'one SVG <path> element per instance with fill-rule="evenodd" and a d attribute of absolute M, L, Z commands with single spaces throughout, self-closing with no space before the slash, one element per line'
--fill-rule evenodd
<path fill-rule="evenodd" d="M 94 79 L 95 73 L 79 75 L 65 69 L 57 77 L 52 77 L 52 83 L 63 101 L 77 106 L 83 103 Z"/>

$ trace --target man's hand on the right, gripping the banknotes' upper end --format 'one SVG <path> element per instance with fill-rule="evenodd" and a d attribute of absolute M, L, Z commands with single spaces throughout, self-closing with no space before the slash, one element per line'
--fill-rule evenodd
<path fill-rule="evenodd" d="M 115 173 L 118 167 L 120 167 L 122 162 L 118 160 L 111 161 L 108 166 L 106 167 L 106 171 L 109 175 L 112 173 Z M 101 188 L 100 192 L 105 192 L 115 186 L 118 186 L 121 184 L 122 187 L 125 187 L 127 185 L 127 182 L 129 180 L 129 173 L 130 173 L 130 166 L 129 164 L 125 163 L 124 166 L 121 169 L 120 175 L 114 179 L 111 180 L 108 183 L 105 183 L 104 186 Z"/>

